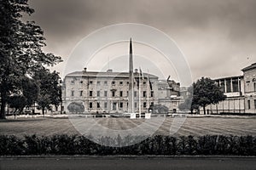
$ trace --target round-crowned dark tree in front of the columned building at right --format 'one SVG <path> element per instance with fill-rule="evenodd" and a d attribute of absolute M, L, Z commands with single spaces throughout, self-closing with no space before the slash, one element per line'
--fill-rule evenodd
<path fill-rule="evenodd" d="M 201 77 L 201 79 L 194 82 L 189 88 L 189 94 L 192 94 L 191 105 L 189 105 L 191 112 L 202 107 L 205 115 L 207 105 L 218 104 L 219 101 L 226 99 L 226 96 L 224 95 L 224 92 L 221 91 L 220 87 L 208 77 Z M 185 105 L 186 102 L 188 103 L 188 101 L 185 100 L 183 105 Z"/>

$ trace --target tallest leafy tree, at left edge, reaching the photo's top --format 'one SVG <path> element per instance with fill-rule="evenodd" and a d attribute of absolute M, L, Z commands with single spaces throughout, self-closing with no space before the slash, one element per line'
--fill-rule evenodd
<path fill-rule="evenodd" d="M 61 57 L 43 52 L 46 44 L 40 26 L 34 21 L 21 21 L 22 14 L 34 12 L 27 1 L 0 1 L 0 118 L 5 118 L 9 95 L 20 91 L 20 78 L 32 77 L 38 68 L 61 61 Z"/>

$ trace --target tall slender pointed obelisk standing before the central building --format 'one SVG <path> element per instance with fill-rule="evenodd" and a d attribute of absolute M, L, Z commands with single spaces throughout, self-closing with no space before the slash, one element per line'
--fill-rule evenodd
<path fill-rule="evenodd" d="M 134 113 L 133 88 L 134 88 L 134 75 L 133 75 L 133 59 L 132 59 L 132 42 L 130 39 L 128 113 Z"/>

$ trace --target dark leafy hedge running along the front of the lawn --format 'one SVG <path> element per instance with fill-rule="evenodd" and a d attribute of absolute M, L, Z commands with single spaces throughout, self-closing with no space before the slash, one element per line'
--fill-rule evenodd
<path fill-rule="evenodd" d="M 136 140 L 140 137 L 127 137 Z M 102 137 L 101 141 L 121 144 L 118 138 Z M 125 145 L 125 144 L 124 144 Z M 78 135 L 30 135 L 18 138 L 0 135 L 1 156 L 22 155 L 232 155 L 256 156 L 254 136 L 160 136 L 149 137 L 140 143 L 125 147 L 96 144 L 90 137 Z"/>

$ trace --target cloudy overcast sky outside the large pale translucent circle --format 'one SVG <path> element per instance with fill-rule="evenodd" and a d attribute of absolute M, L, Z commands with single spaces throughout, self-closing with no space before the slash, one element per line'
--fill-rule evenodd
<path fill-rule="evenodd" d="M 46 52 L 69 54 L 104 26 L 140 23 L 165 32 L 185 55 L 193 80 L 242 75 L 256 62 L 254 0 L 30 0 L 44 30 Z M 128 48 L 128 47 L 127 47 Z M 90 67 L 89 67 L 90 68 Z M 77 71 L 74 68 L 73 71 Z M 62 75 L 63 76 L 63 75 Z"/>

